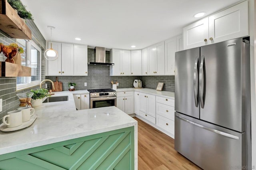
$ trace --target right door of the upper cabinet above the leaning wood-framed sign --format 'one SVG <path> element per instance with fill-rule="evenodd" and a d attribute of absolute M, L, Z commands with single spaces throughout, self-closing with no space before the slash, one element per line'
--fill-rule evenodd
<path fill-rule="evenodd" d="M 156 45 L 156 75 L 164 75 L 164 42 Z"/>

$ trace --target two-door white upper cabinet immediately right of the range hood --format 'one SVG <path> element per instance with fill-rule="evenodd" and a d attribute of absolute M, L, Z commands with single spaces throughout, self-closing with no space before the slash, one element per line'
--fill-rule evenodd
<path fill-rule="evenodd" d="M 110 75 L 131 75 L 131 51 L 122 49 L 110 50 Z"/>

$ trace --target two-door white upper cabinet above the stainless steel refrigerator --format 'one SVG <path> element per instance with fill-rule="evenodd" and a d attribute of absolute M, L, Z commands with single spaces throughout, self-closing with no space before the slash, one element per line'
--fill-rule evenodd
<path fill-rule="evenodd" d="M 248 23 L 248 1 L 244 1 L 183 28 L 184 49 L 248 36 Z"/>

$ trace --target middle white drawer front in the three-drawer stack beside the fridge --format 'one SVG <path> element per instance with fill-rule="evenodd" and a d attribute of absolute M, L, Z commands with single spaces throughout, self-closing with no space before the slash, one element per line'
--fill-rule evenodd
<path fill-rule="evenodd" d="M 156 103 L 156 114 L 174 121 L 175 113 L 174 107 L 172 106 L 164 105 L 162 103 Z"/>

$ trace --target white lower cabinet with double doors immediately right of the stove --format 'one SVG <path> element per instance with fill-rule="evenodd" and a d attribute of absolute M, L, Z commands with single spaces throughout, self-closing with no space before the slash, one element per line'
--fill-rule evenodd
<path fill-rule="evenodd" d="M 134 92 L 124 91 L 116 93 L 116 107 L 129 114 L 134 113 Z"/>

